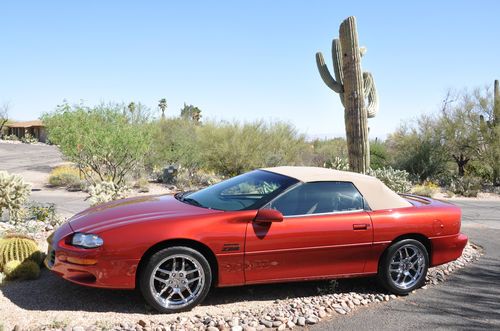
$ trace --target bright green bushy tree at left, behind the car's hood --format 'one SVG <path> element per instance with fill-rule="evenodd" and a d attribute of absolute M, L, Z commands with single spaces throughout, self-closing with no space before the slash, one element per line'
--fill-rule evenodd
<path fill-rule="evenodd" d="M 152 144 L 146 118 L 123 113 L 117 104 L 86 107 L 63 104 L 43 116 L 49 139 L 94 184 L 125 184 L 140 171 Z"/>

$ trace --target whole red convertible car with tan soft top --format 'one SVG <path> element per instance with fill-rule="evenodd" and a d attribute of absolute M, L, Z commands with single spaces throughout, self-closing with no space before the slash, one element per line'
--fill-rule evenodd
<path fill-rule="evenodd" d="M 46 265 L 81 285 L 138 287 L 161 312 L 192 308 L 212 286 L 378 275 L 406 294 L 462 254 L 460 223 L 458 207 L 374 177 L 267 168 L 87 209 L 49 237 Z"/>

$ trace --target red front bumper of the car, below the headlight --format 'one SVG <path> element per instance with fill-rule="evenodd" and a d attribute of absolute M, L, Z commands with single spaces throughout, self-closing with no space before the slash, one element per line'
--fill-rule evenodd
<path fill-rule="evenodd" d="M 47 269 L 80 285 L 115 289 L 135 288 L 139 260 L 113 257 L 102 247 L 83 249 L 67 245 L 64 238 L 71 232 L 68 232 L 67 228 L 61 228 L 49 237 L 49 248 L 44 261 Z"/>

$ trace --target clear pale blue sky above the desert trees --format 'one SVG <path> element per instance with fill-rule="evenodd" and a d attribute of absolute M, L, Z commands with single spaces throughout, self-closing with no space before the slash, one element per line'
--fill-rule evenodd
<path fill-rule="evenodd" d="M 63 99 L 141 102 L 167 114 L 285 120 L 310 136 L 343 135 L 324 53 L 358 19 L 380 111 L 371 137 L 438 108 L 449 88 L 500 78 L 500 1 L 3 1 L 0 103 L 28 120 Z"/>

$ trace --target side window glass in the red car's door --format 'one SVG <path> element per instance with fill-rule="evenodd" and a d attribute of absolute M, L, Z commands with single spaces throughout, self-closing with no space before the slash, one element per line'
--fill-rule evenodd
<path fill-rule="evenodd" d="M 267 207 L 284 216 L 322 214 L 364 209 L 364 199 L 352 183 L 313 182 L 291 189 Z"/>

